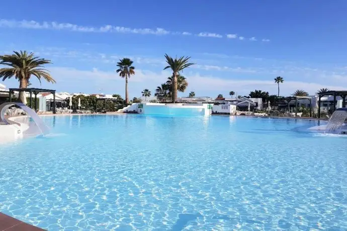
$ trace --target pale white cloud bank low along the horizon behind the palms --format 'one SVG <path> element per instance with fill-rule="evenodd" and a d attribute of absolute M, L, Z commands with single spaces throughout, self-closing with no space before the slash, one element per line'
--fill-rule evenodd
<path fill-rule="evenodd" d="M 101 71 L 97 68 L 92 70 L 78 70 L 67 67 L 50 68 L 52 76 L 57 80 L 56 85 L 47 85 L 47 87 L 55 88 L 58 91 L 72 91 L 96 93 L 99 88 L 102 88 L 104 93 L 120 93 L 124 95 L 124 79 L 119 77 L 114 71 Z M 147 70 L 136 70 L 136 74 L 131 76 L 129 80 L 129 93 L 131 97 L 140 96 L 143 88 L 148 88 L 154 92 L 156 86 L 164 82 L 168 71 L 152 72 Z M 239 78 L 219 78 L 215 76 L 202 76 L 199 73 L 185 73 L 189 82 L 188 88 L 183 95 L 186 95 L 190 90 L 194 90 L 197 95 L 215 96 L 218 93 L 224 93 L 232 90 L 238 94 L 248 94 L 254 89 L 262 89 L 269 91 L 270 94 L 277 94 L 277 84 L 272 80 L 256 80 L 256 79 L 239 79 Z M 18 81 L 13 81 L 18 85 Z M 43 82 L 43 85 L 47 83 Z M 43 86 L 44 87 L 44 86 Z M 46 86 L 45 86 L 46 87 Z M 338 85 L 325 85 L 303 81 L 285 81 L 280 85 L 282 95 L 290 95 L 296 89 L 303 89 L 310 94 L 314 94 L 319 88 L 347 90 L 345 87 Z"/>

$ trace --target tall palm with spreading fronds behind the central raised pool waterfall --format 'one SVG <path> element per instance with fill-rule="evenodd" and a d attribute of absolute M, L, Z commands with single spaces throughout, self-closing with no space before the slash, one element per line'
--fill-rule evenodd
<path fill-rule="evenodd" d="M 189 59 L 191 57 L 185 57 L 182 56 L 181 58 L 175 58 L 173 59 L 172 57 L 168 56 L 167 54 L 165 54 L 165 58 L 166 58 L 166 63 L 167 66 L 164 68 L 164 70 L 170 68 L 172 70 L 172 84 L 171 84 L 171 100 L 172 102 L 176 102 L 177 101 L 177 75 L 180 74 L 180 71 L 183 71 L 183 69 L 190 67 L 192 65 L 194 65 L 194 63 L 189 63 Z"/>

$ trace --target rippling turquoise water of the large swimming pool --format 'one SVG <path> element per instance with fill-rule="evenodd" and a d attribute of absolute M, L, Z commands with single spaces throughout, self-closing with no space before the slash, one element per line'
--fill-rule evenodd
<path fill-rule="evenodd" d="M 0 146 L 0 211 L 48 230 L 346 230 L 347 139 L 317 121 L 43 117 Z M 322 123 L 324 124 L 324 123 Z"/>

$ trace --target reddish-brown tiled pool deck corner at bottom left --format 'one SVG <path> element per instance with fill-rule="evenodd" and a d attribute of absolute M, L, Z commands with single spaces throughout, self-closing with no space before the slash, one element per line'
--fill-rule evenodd
<path fill-rule="evenodd" d="M 0 212 L 0 231 L 40 231 L 45 230 L 35 227 L 31 224 L 24 223 L 11 216 Z"/>

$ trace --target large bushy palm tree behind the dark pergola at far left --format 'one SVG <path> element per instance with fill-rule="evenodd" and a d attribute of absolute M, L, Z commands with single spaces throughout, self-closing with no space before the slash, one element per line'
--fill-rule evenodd
<path fill-rule="evenodd" d="M 51 61 L 35 57 L 32 52 L 14 51 L 12 55 L 2 55 L 0 56 L 0 64 L 9 66 L 0 68 L 0 78 L 5 81 L 7 78 L 10 79 L 15 76 L 19 80 L 19 88 L 27 88 L 32 75 L 36 76 L 40 83 L 41 78 L 44 78 L 47 82 L 55 83 L 53 77 L 48 73 L 49 71 L 44 69 L 44 65 L 51 64 Z M 24 91 L 19 93 L 19 97 L 22 102 L 25 102 L 26 95 Z"/>

